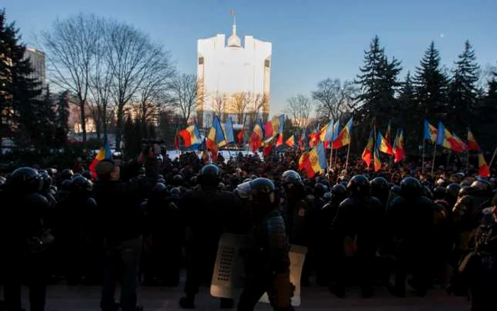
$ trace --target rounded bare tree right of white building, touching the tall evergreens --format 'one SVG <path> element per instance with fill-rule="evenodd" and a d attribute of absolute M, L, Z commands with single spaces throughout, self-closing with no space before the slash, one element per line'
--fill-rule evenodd
<path fill-rule="evenodd" d="M 327 78 L 317 84 L 317 90 L 312 92 L 312 99 L 317 101 L 317 116 L 327 120 L 337 120 L 345 112 L 356 109 L 356 96 L 359 89 L 354 82 Z"/>

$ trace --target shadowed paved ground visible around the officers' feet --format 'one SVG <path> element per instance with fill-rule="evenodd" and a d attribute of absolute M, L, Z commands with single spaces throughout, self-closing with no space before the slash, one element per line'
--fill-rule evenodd
<path fill-rule="evenodd" d="M 23 292 L 27 300 L 26 290 Z M 140 288 L 140 302 L 146 311 L 177 311 L 178 300 L 182 293 L 180 288 Z M 96 311 L 99 310 L 100 288 L 66 285 L 50 286 L 48 289 L 47 311 Z M 210 298 L 204 288 L 196 300 L 197 310 L 219 310 L 218 300 Z M 28 307 L 26 304 L 25 307 Z M 270 310 L 268 305 L 259 304 L 256 310 Z M 304 288 L 302 305 L 297 310 L 308 311 L 459 311 L 469 310 L 469 303 L 464 298 L 445 295 L 442 290 L 432 290 L 426 298 L 393 298 L 385 289 L 379 288 L 374 298 L 359 298 L 359 290 L 352 289 L 347 298 L 339 300 L 325 288 Z"/>

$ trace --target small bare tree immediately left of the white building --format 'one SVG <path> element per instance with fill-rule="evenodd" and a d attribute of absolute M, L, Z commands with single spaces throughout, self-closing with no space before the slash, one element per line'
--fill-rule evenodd
<path fill-rule="evenodd" d="M 197 107 L 198 89 L 201 89 L 201 87 L 197 85 L 195 75 L 175 73 L 170 82 L 168 82 L 170 105 L 178 111 L 183 124 L 187 123 L 192 112 Z"/>

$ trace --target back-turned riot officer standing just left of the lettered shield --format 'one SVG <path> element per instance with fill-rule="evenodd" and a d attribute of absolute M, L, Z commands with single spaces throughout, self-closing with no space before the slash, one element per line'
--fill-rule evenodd
<path fill-rule="evenodd" d="M 233 193 L 218 189 L 220 173 L 216 165 L 204 165 L 198 177 L 200 190 L 190 190 L 180 200 L 182 222 L 190 231 L 186 295 L 180 299 L 180 307 L 185 309 L 195 307 L 199 286 L 212 278 L 220 236 L 236 231 L 240 203 Z M 223 308 L 233 304 L 233 300 L 221 300 Z"/>

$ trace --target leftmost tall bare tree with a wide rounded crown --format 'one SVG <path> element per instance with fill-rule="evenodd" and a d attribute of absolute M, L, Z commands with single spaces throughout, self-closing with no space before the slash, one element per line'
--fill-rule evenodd
<path fill-rule="evenodd" d="M 42 32 L 53 84 L 69 89 L 77 97 L 83 142 L 87 140 L 84 106 L 96 57 L 95 43 L 102 36 L 102 25 L 102 18 L 79 14 L 58 19 L 50 31 Z"/>

